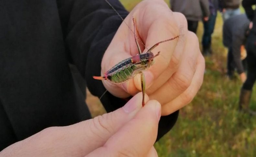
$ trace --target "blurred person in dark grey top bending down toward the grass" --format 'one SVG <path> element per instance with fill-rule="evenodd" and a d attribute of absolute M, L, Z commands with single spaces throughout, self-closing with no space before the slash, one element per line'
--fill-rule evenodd
<path fill-rule="evenodd" d="M 223 25 L 223 44 L 228 48 L 227 76 L 232 79 L 235 69 L 242 82 L 246 80 L 244 66 L 241 60 L 241 47 L 248 36 L 250 21 L 245 14 L 230 17 Z"/>

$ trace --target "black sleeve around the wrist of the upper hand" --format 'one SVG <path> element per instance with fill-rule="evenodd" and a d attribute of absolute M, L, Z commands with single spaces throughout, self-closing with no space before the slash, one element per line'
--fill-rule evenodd
<path fill-rule="evenodd" d="M 126 17 L 128 12 L 118 0 L 108 0 Z M 122 20 L 104 0 L 59 0 L 59 14 L 66 42 L 67 56 L 86 79 L 87 87 L 93 95 L 100 97 L 105 91 L 102 82 L 92 76 L 99 76 L 101 60 Z M 128 99 L 121 99 L 109 92 L 101 102 L 107 112 L 122 107 Z M 167 133 L 175 124 L 179 111 L 161 117 L 157 139 Z"/>

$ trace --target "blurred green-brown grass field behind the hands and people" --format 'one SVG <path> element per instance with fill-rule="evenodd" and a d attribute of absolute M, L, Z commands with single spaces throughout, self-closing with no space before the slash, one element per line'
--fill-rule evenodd
<path fill-rule="evenodd" d="M 121 0 L 131 10 L 138 0 Z M 227 50 L 222 45 L 222 18 L 217 17 L 212 39 L 214 54 L 206 57 L 204 83 L 180 116 L 174 128 L 156 144 L 160 157 L 165 156 L 256 156 L 256 117 L 238 112 L 242 83 L 225 77 Z M 202 23 L 197 36 L 201 42 Z M 251 109 L 256 110 L 256 85 Z M 93 116 L 104 113 L 98 98 L 87 96 Z"/>

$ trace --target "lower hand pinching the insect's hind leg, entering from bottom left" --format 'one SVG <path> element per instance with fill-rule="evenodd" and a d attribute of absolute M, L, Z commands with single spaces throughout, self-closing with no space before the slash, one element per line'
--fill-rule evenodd
<path fill-rule="evenodd" d="M 157 156 L 153 144 L 161 106 L 156 100 L 141 108 L 142 93 L 124 107 L 65 127 L 51 127 L 19 141 L 0 156 Z"/>

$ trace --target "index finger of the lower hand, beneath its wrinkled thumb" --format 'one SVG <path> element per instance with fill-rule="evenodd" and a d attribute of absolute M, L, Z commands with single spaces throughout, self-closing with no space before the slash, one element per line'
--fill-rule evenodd
<path fill-rule="evenodd" d="M 157 138 L 161 105 L 156 100 L 147 102 L 136 116 L 111 138 L 88 156 L 146 156 L 152 154 Z"/>

